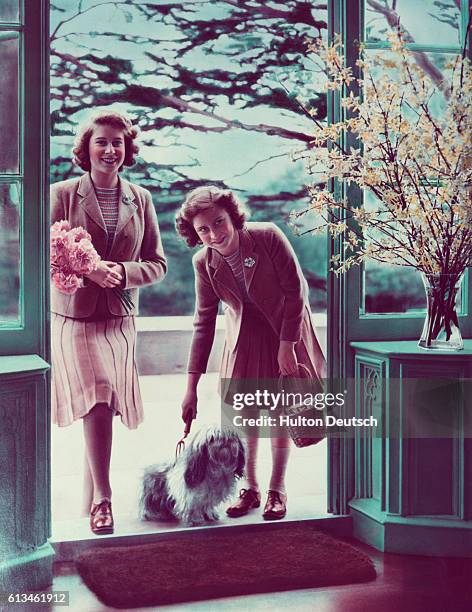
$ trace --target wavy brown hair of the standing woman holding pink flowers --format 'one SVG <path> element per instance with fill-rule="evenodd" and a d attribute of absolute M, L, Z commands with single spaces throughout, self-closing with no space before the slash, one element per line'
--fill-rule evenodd
<path fill-rule="evenodd" d="M 123 166 L 132 166 L 136 161 L 136 155 L 139 151 L 139 147 L 134 143 L 139 130 L 137 127 L 133 126 L 126 115 L 122 115 L 116 111 L 101 111 L 95 113 L 79 127 L 77 137 L 74 141 L 74 148 L 72 149 L 72 161 L 74 164 L 86 172 L 91 169 L 89 143 L 93 130 L 97 125 L 109 125 L 123 130 L 125 138 L 125 159 L 119 171 L 123 169 Z"/>

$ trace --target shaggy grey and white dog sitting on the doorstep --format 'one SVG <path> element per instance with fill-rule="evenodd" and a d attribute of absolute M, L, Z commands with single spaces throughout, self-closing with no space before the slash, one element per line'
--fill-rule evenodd
<path fill-rule="evenodd" d="M 187 525 L 218 520 L 216 508 L 234 493 L 244 462 L 244 446 L 235 431 L 200 430 L 174 462 L 146 468 L 141 518 L 179 519 Z"/>

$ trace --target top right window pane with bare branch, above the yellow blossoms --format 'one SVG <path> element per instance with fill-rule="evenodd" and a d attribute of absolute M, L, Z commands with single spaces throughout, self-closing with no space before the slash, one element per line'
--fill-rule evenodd
<path fill-rule="evenodd" d="M 391 8 L 396 5 L 395 9 Z M 411 42 L 422 45 L 460 46 L 461 12 L 455 0 L 366 0 L 365 40 L 380 42 L 400 19 Z"/>

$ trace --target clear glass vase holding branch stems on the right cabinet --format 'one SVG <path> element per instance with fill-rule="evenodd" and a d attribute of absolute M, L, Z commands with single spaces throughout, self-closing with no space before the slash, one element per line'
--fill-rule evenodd
<path fill-rule="evenodd" d="M 461 305 L 464 274 L 421 273 L 427 315 L 418 346 L 428 351 L 460 351 L 464 348 L 457 312 Z"/>

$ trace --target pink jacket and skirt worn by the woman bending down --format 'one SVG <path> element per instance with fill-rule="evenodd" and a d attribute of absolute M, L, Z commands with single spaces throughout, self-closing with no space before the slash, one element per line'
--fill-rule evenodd
<path fill-rule="evenodd" d="M 325 362 L 311 321 L 308 285 L 289 241 L 276 225 L 262 222 L 246 223 L 239 238 L 245 287 L 215 249 L 204 247 L 193 258 L 196 310 L 188 371 L 206 371 L 222 301 L 222 379 L 277 378 L 280 340 L 294 342 L 298 362 L 321 378 Z"/>

